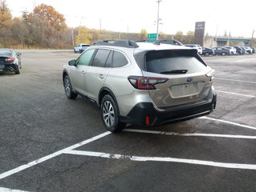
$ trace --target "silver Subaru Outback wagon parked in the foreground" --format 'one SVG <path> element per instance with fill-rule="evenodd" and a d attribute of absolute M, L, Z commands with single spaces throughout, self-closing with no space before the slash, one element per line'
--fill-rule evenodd
<path fill-rule="evenodd" d="M 197 50 L 132 40 L 95 42 L 63 67 L 67 98 L 95 102 L 112 132 L 128 123 L 156 126 L 211 113 L 213 78 Z"/>

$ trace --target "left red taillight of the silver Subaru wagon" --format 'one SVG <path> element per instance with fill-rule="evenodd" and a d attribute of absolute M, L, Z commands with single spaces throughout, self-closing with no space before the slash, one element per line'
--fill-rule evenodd
<path fill-rule="evenodd" d="M 137 90 L 156 90 L 156 84 L 167 82 L 168 78 L 129 76 L 128 80 Z"/>

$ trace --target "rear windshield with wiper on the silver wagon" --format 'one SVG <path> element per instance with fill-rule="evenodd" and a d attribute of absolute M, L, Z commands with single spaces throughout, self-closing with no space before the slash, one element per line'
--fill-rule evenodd
<path fill-rule="evenodd" d="M 146 70 L 156 74 L 192 74 L 206 66 L 187 50 L 154 50 L 146 54 Z"/>

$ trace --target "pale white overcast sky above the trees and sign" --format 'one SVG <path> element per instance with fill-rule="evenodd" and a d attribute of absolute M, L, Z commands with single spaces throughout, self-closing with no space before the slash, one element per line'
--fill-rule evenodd
<path fill-rule="evenodd" d="M 32 12 L 41 3 L 53 6 L 66 18 L 67 26 L 87 26 L 102 30 L 156 33 L 157 0 L 6 0 L 14 17 Z M 205 34 L 250 38 L 256 30 L 256 2 L 246 0 L 162 0 L 159 31 L 186 34 L 195 22 L 205 22 Z M 256 34 L 256 33 L 255 33 Z M 255 36 L 255 35 L 254 35 Z"/>

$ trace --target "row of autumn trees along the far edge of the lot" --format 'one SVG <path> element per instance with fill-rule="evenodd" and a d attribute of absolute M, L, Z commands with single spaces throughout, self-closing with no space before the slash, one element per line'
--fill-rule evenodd
<path fill-rule="evenodd" d="M 120 33 L 108 30 L 88 29 L 85 26 L 68 27 L 63 14 L 46 4 L 35 6 L 32 13 L 22 12 L 21 17 L 13 18 L 6 0 L 0 0 L 0 46 L 15 49 L 72 49 L 78 43 L 88 43 L 99 39 L 129 38 L 145 40 L 148 32 Z M 192 43 L 193 32 L 184 35 L 161 33 L 159 38 L 175 38 L 180 42 Z"/>

